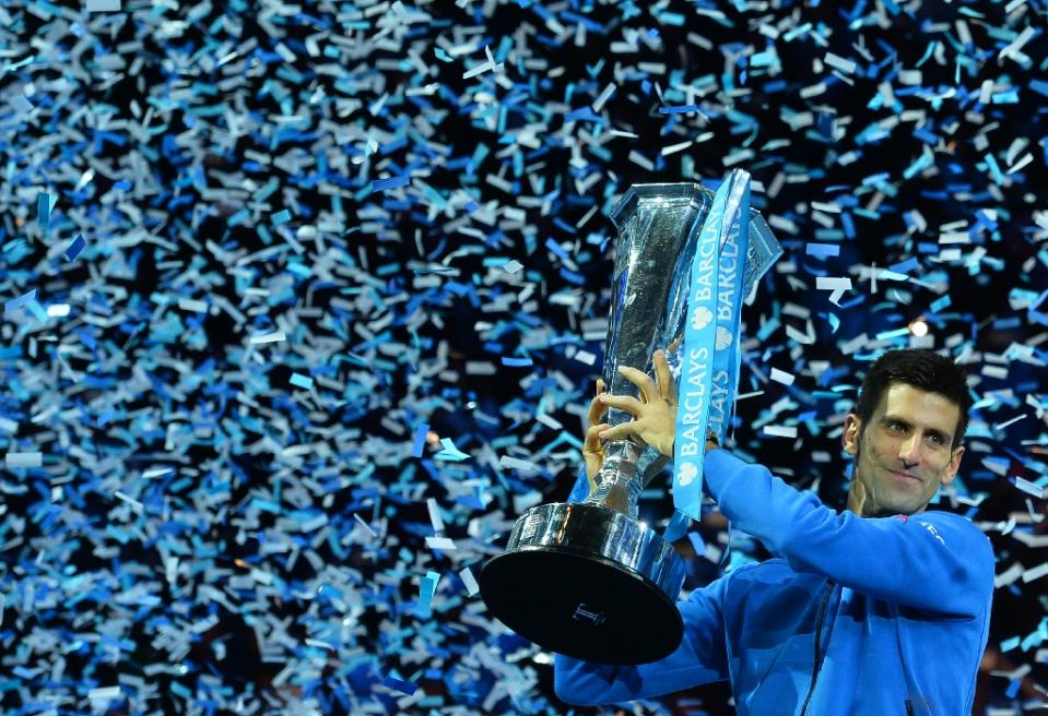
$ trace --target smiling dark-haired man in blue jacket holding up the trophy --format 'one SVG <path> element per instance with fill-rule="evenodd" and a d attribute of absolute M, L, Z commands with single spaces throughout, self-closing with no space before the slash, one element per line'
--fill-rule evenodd
<path fill-rule="evenodd" d="M 662 351 L 655 366 L 658 385 L 623 369 L 640 398 L 593 399 L 590 481 L 602 439 L 632 435 L 672 455 L 676 392 Z M 740 716 L 970 714 L 993 553 L 969 521 L 926 511 L 957 473 L 970 405 L 964 374 L 947 358 L 930 350 L 879 358 L 844 422 L 855 463 L 839 514 L 708 442 L 707 490 L 774 559 L 739 566 L 679 601 L 684 641 L 660 661 L 615 666 L 557 655 L 557 695 L 615 703 L 728 679 Z M 604 406 L 634 420 L 592 425 Z"/>

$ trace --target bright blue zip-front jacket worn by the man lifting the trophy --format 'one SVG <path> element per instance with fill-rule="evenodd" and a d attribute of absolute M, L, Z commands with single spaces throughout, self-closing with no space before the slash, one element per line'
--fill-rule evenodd
<path fill-rule="evenodd" d="M 993 552 L 975 525 L 946 512 L 838 514 L 723 450 L 703 474 L 733 526 L 775 558 L 679 601 L 684 641 L 660 661 L 556 655 L 557 696 L 608 704 L 729 679 L 739 716 L 972 713 L 993 595 Z"/>

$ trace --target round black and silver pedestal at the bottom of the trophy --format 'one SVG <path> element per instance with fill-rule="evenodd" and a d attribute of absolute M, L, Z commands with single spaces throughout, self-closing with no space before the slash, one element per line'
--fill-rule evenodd
<path fill-rule="evenodd" d="M 586 503 L 532 508 L 480 573 L 485 604 L 509 629 L 601 664 L 672 654 L 684 634 L 674 602 L 683 583 L 672 545 L 644 523 Z"/>

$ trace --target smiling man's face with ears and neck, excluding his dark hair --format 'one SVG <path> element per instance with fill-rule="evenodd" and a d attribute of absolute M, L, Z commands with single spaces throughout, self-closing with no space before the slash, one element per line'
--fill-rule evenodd
<path fill-rule="evenodd" d="M 894 383 L 869 421 L 845 418 L 845 452 L 855 455 L 848 509 L 862 516 L 922 512 L 949 485 L 964 448 L 951 449 L 961 408 L 939 393 Z"/>

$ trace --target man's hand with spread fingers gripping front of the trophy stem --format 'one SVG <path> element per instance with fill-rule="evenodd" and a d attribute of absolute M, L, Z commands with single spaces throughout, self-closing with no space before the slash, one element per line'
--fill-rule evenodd
<path fill-rule="evenodd" d="M 640 397 L 626 395 L 599 395 L 596 399 L 605 407 L 619 408 L 633 416 L 629 422 L 623 422 L 609 428 L 597 430 L 600 440 L 622 440 L 627 437 L 638 442 L 651 445 L 663 455 L 673 455 L 673 437 L 676 430 L 676 383 L 670 372 L 670 363 L 666 359 L 666 351 L 655 351 L 655 374 L 658 384 L 651 378 L 636 368 L 620 366 L 619 371 L 631 383 L 640 389 Z M 590 410 L 592 415 L 592 408 Z M 590 429 L 592 430 L 592 428 Z M 590 432 L 587 431 L 587 442 Z M 589 462 L 587 461 L 587 467 Z"/>

